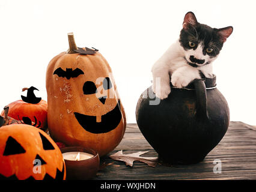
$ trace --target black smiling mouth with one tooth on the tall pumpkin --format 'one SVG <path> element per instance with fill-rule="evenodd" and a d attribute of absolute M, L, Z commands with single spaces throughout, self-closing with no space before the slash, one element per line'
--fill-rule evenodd
<path fill-rule="evenodd" d="M 77 112 L 74 114 L 82 128 L 90 133 L 99 134 L 108 133 L 117 127 L 122 118 L 120 109 L 120 100 L 118 100 L 117 106 L 113 110 L 102 115 L 101 122 L 96 122 L 96 116 L 84 115 Z"/>

